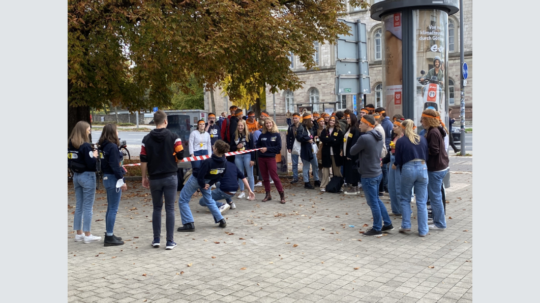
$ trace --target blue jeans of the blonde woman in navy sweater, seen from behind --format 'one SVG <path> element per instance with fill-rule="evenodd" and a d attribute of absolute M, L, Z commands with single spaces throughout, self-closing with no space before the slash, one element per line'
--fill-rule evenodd
<path fill-rule="evenodd" d="M 399 168 L 398 168 L 399 169 Z M 418 211 L 418 232 L 420 235 L 428 234 L 428 168 L 422 161 L 409 161 L 401 168 L 400 180 L 401 196 L 401 227 L 410 228 L 410 198 L 412 190 L 416 193 L 416 210 Z M 439 184 L 441 192 L 441 184 Z"/>

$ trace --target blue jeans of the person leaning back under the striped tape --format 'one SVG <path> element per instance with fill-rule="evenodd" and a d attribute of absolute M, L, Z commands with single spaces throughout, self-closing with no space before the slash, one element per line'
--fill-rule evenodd
<path fill-rule="evenodd" d="M 208 183 L 208 181 L 206 180 L 205 182 Z M 194 222 L 193 215 L 191 214 L 190 209 L 190 199 L 191 195 L 195 194 L 195 191 L 197 191 L 197 189 L 200 189 L 201 194 L 203 194 L 203 204 L 201 204 L 200 202 L 199 204 L 202 206 L 206 206 L 208 209 L 210 209 L 212 216 L 214 216 L 215 223 L 218 223 L 223 217 L 221 216 L 221 213 L 219 212 L 217 206 L 215 206 L 215 201 L 212 198 L 211 188 L 200 188 L 199 183 L 197 182 L 197 178 L 191 175 L 190 178 L 187 180 L 186 185 L 184 185 L 182 191 L 180 191 L 180 198 L 178 199 L 178 207 L 180 208 L 182 225 Z"/>

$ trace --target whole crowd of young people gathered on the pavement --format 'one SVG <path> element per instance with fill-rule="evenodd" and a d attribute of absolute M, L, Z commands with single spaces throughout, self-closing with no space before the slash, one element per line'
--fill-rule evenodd
<path fill-rule="evenodd" d="M 254 187 L 258 185 L 265 188 L 263 202 L 272 200 L 271 185 L 274 184 L 279 193 L 278 201 L 286 203 L 276 164 L 281 161 L 281 136 L 274 120 L 262 111 L 257 121 L 254 112 L 244 116 L 236 106 L 231 106 L 230 113 L 228 116 L 221 113 L 219 120 L 210 113 L 208 122 L 197 122 L 197 129 L 188 142 L 190 155 L 210 157 L 191 161 L 191 172 L 184 180 L 179 177 L 177 166 L 177 162 L 184 159 L 182 142 L 167 129 L 167 115 L 163 111 L 154 113 L 156 129 L 144 137 L 140 152 L 142 185 L 150 189 L 153 201 L 152 246 L 161 245 L 163 205 L 166 249 L 176 246 L 174 200 L 180 188 L 178 204 L 183 226 L 177 229 L 179 232 L 195 230 L 189 202 L 197 192 L 202 195 L 199 204 L 210 210 L 214 223 L 221 228 L 227 225 L 221 213 L 236 208 L 233 197 L 254 200 Z M 394 230 L 390 217 L 399 216 L 402 218 L 399 231 L 410 232 L 410 203 L 413 201 L 417 206 L 420 237 L 425 237 L 429 230 L 444 230 L 443 178 L 449 170 L 446 151 L 451 135 L 440 116 L 434 109 L 426 109 L 421 117 L 423 129 L 417 134 L 412 120 L 402 115 L 394 115 L 390 120 L 384 108 L 373 105 L 361 108 L 358 116 L 349 109 L 332 115 L 292 113 L 286 133 L 287 150 L 293 164 L 291 184 L 299 183 L 298 161 L 301 159 L 304 188 L 318 187 L 321 192 L 345 195 L 358 195 L 363 190 L 373 214 L 373 226 L 363 232 L 363 236 L 380 237 L 382 232 Z M 77 199 L 73 220 L 73 229 L 77 232 L 75 241 L 91 243 L 102 239 L 90 231 L 97 182 L 95 172 L 99 167 L 107 192 L 104 245 L 122 245 L 122 238 L 113 233 L 122 190 L 126 189 L 118 132 L 115 125 L 105 125 L 97 150 L 90 143 L 90 132 L 90 125 L 80 121 L 68 141 L 68 164 L 74 172 Z M 253 149 L 258 150 L 245 152 Z M 245 153 L 226 157 L 228 152 Z M 254 174 L 255 168 L 257 174 Z M 310 175 L 313 184 L 309 181 Z M 255 184 L 255 176 L 258 184 Z M 337 191 L 335 180 L 339 184 Z M 380 199 L 385 191 L 390 197 L 390 213 Z M 222 200 L 224 203 L 218 202 Z"/>

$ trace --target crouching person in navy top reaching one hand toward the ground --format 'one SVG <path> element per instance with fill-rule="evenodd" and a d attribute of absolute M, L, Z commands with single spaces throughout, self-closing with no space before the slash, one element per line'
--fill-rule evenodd
<path fill-rule="evenodd" d="M 234 162 L 235 156 L 232 155 L 229 157 L 233 157 L 232 160 Z M 244 187 L 247 189 L 248 199 L 255 199 L 255 193 L 251 188 L 249 188 L 249 183 L 247 182 L 244 173 L 242 173 L 234 163 L 227 161 L 227 170 L 225 171 L 223 178 L 216 183 L 216 189 L 212 190 L 212 199 L 214 199 L 215 206 L 219 209 L 219 212 L 224 212 L 229 208 L 236 208 L 236 205 L 234 205 L 231 198 L 234 197 L 238 191 L 238 180 L 242 180 L 242 182 L 244 182 Z M 227 203 L 218 202 L 222 199 L 225 199 Z M 206 206 L 204 203 L 205 201 L 203 197 L 199 200 L 199 205 Z"/>

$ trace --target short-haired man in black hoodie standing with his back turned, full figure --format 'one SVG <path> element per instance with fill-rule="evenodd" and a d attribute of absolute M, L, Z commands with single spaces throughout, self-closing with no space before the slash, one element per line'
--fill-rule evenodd
<path fill-rule="evenodd" d="M 140 149 L 140 171 L 143 175 L 143 187 L 150 188 L 152 194 L 152 230 L 153 247 L 159 247 L 161 242 L 161 210 L 165 196 L 165 226 L 167 246 L 171 250 L 174 243 L 174 200 L 178 182 L 177 161 L 184 159 L 184 147 L 177 134 L 167 129 L 167 114 L 163 111 L 154 113 L 156 129 L 143 138 Z M 149 177 L 146 176 L 148 170 Z M 150 179 L 150 180 L 149 180 Z"/>

